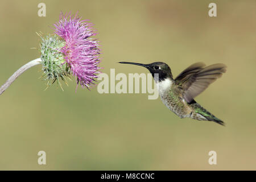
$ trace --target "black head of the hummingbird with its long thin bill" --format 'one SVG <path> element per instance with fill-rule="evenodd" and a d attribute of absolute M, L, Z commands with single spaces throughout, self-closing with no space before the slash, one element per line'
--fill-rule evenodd
<path fill-rule="evenodd" d="M 150 73 L 152 74 L 153 77 L 155 76 L 154 74 L 157 73 L 159 76 L 159 81 L 163 81 L 166 78 L 172 79 L 171 68 L 166 63 L 163 63 L 163 62 L 154 62 L 154 63 L 150 63 L 150 64 L 131 63 L 131 62 L 119 62 L 119 63 L 134 64 L 134 65 L 138 65 L 141 67 L 145 67 L 148 69 L 148 71 L 150 71 Z M 158 81 L 158 80 L 155 80 L 155 81 Z"/>

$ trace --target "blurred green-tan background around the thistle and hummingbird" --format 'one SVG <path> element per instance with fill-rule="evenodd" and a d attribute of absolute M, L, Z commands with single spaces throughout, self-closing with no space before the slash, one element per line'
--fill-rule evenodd
<path fill-rule="evenodd" d="M 147 94 L 75 93 L 75 80 L 44 91 L 38 65 L 0 96 L 0 169 L 256 169 L 256 1 L 43 1 L 39 17 L 40 2 L 0 3 L 1 84 L 40 56 L 35 32 L 52 33 L 60 11 L 79 11 L 98 30 L 102 72 L 148 73 L 117 64 L 134 60 L 164 61 L 174 76 L 197 61 L 228 65 L 196 98 L 226 126 L 180 119 Z M 211 150 L 217 165 L 208 164 Z"/>

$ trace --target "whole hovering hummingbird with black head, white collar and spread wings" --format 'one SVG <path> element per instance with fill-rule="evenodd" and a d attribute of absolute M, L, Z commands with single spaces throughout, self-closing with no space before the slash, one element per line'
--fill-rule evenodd
<path fill-rule="evenodd" d="M 204 63 L 195 63 L 181 72 L 175 79 L 171 68 L 163 62 L 141 64 L 119 62 L 145 67 L 154 77 L 158 86 L 159 96 L 164 105 L 180 118 L 192 118 L 200 121 L 213 121 L 224 125 L 208 110 L 198 104 L 194 98 L 203 92 L 212 82 L 226 72 L 225 64 L 212 64 L 206 67 Z"/>

